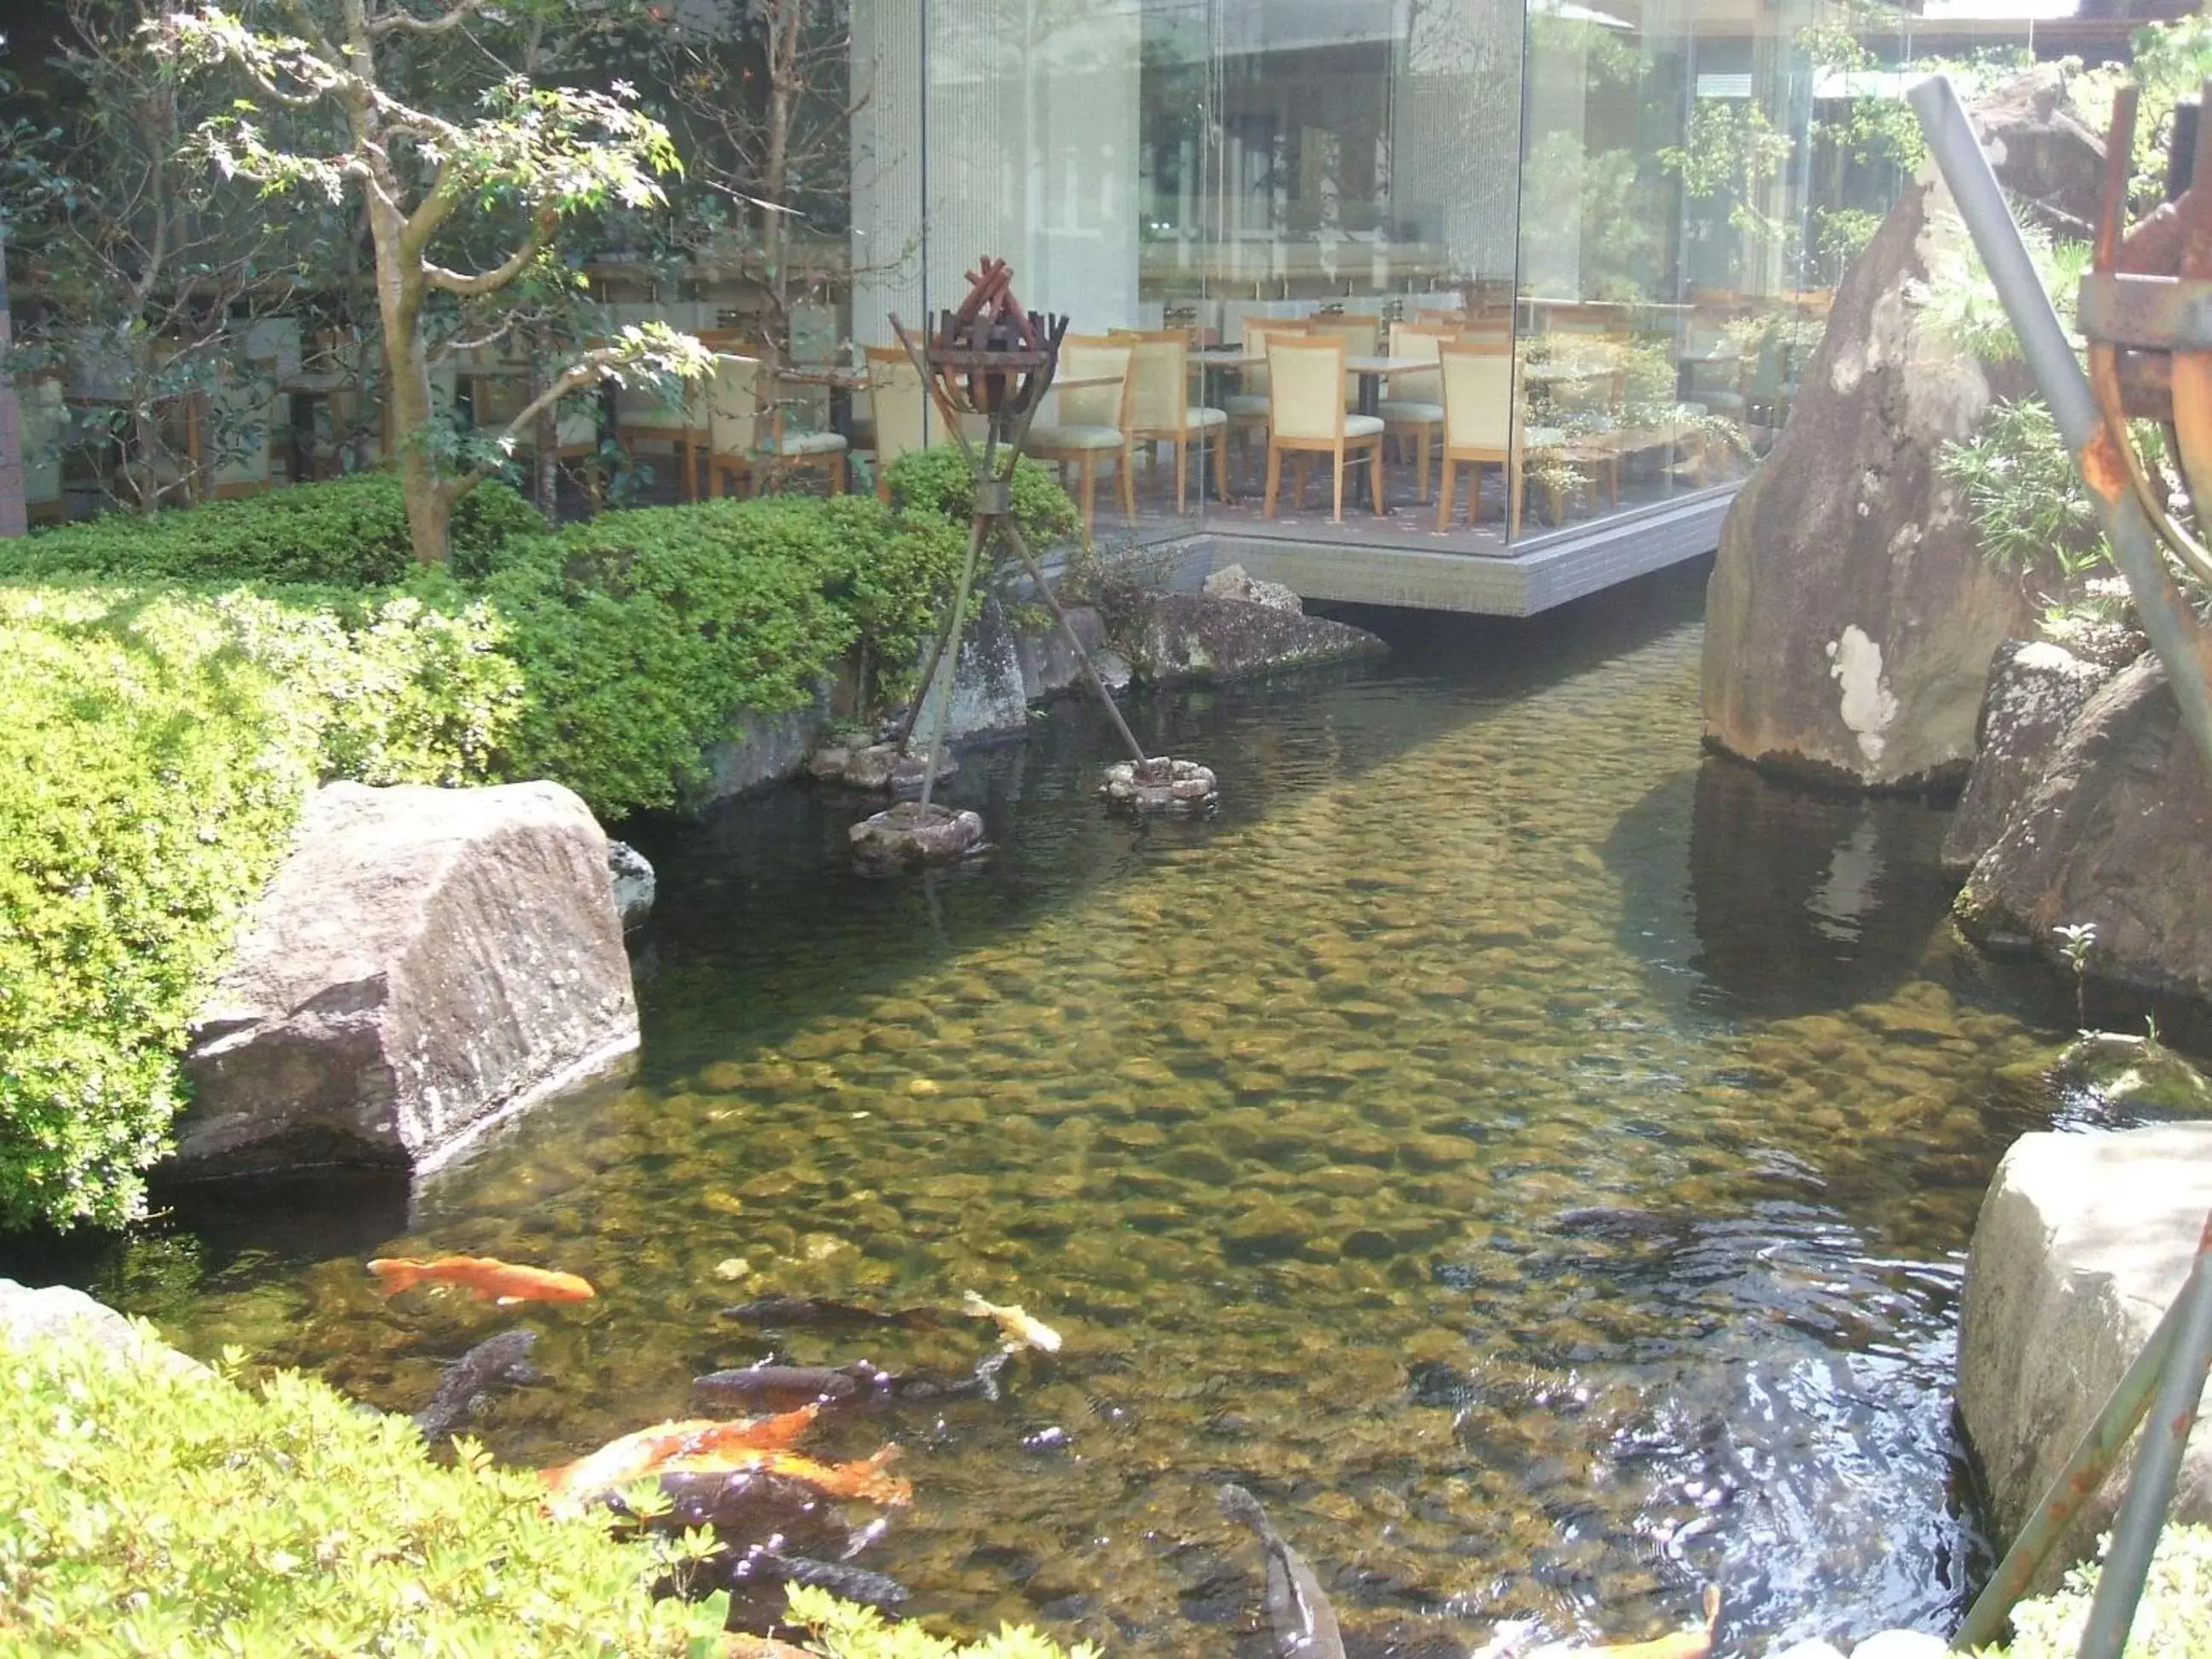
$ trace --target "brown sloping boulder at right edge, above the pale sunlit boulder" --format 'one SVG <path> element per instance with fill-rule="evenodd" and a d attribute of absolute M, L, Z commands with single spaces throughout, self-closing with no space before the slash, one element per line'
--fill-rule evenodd
<path fill-rule="evenodd" d="M 1982 945 L 2057 956 L 2095 927 L 2090 971 L 2212 1000 L 2212 783 L 2154 655 L 2119 670 L 2066 730 L 1958 896 Z"/>

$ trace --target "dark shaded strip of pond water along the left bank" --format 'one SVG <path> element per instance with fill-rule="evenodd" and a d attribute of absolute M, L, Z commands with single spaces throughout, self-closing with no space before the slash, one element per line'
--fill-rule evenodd
<path fill-rule="evenodd" d="M 1219 814 L 1133 823 L 1091 810 L 1113 732 L 1088 699 L 1042 710 L 1024 739 L 969 748 L 940 799 L 973 807 L 991 849 L 969 869 L 876 880 L 852 869 L 845 830 L 880 801 L 779 787 L 699 818 L 653 816 L 624 834 L 653 860 L 661 905 L 637 938 L 646 1064 L 670 1075 L 721 1055 L 732 993 L 743 1033 L 774 1042 L 794 1022 L 896 991 L 911 973 L 989 945 L 1084 894 L 1261 823 L 1298 799 L 1573 681 L 1694 622 L 1705 562 L 1613 588 L 1540 622 L 1338 606 L 1391 655 L 1298 675 L 1128 699 L 1152 754 L 1217 770 Z M 805 918 L 792 927 L 790 918 Z M 701 1022 L 703 1018 L 703 1022 Z"/>

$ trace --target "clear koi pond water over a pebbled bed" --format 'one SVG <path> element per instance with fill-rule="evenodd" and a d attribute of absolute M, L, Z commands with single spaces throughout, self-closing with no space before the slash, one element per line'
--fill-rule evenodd
<path fill-rule="evenodd" d="M 1933 1626 L 1982 1544 L 1951 1427 L 1964 1245 L 2070 998 L 1958 945 L 1942 814 L 1699 752 L 1701 573 L 1385 664 L 1133 706 L 1221 772 L 1106 816 L 1095 712 L 964 761 L 973 869 L 865 880 L 803 787 L 635 827 L 635 1079 L 414 1194 L 155 1223 L 69 1263 L 181 1347 L 414 1411 L 540 1332 L 476 1431 L 551 1464 L 776 1354 L 960 1374 L 995 1329 L 752 1327 L 763 1296 L 1020 1303 L 998 1398 L 823 1418 L 905 1449 L 860 1564 L 947 1628 L 1267 1650 L 1237 1480 L 1354 1655 L 1502 1619 L 1723 1644 Z M 2022 1082 L 2028 1079 L 2028 1082 Z M 380 1298 L 372 1254 L 588 1276 Z M 865 1513 L 865 1511 L 863 1511 Z"/>

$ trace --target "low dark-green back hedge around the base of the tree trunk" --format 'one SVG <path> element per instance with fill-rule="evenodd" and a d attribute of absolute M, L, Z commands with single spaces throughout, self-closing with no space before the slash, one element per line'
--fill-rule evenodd
<path fill-rule="evenodd" d="M 456 568 L 484 568 L 546 522 L 507 484 L 480 484 L 453 509 Z M 108 513 L 0 542 L 0 580 L 58 571 L 186 582 L 330 582 L 378 586 L 414 568 L 407 507 L 392 473 L 272 489 L 153 518 Z"/>

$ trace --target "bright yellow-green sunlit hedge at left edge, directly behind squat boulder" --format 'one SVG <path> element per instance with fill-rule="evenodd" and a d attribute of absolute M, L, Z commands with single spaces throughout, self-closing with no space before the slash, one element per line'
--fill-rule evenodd
<path fill-rule="evenodd" d="M 305 792 L 489 776 L 498 639 L 414 595 L 0 588 L 0 1228 L 137 1212 Z"/>

